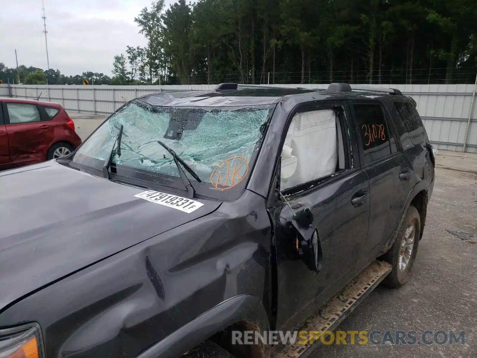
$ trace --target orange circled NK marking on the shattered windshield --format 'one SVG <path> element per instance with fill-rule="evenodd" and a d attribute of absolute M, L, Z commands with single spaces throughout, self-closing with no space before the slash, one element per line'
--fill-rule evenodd
<path fill-rule="evenodd" d="M 244 157 L 225 159 L 210 174 L 210 182 L 218 190 L 228 190 L 239 184 L 249 172 L 249 162 Z"/>

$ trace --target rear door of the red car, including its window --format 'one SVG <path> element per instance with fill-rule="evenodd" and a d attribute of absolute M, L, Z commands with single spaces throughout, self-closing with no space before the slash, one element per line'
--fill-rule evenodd
<path fill-rule="evenodd" d="M 38 105 L 4 102 L 3 113 L 8 133 L 10 159 L 15 164 L 46 160 L 46 152 L 54 140 L 50 118 Z"/>

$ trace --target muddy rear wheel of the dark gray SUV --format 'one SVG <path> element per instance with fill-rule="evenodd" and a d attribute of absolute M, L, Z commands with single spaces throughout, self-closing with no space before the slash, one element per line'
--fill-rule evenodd
<path fill-rule="evenodd" d="M 409 206 L 393 246 L 382 256 L 384 261 L 393 266 L 393 271 L 384 278 L 384 284 L 401 287 L 407 282 L 411 276 L 420 235 L 421 217 L 414 206 Z"/>

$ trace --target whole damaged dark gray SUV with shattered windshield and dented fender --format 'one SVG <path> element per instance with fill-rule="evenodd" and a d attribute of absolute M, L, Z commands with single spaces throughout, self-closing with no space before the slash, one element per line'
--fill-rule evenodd
<path fill-rule="evenodd" d="M 434 187 L 393 89 L 221 84 L 137 98 L 0 173 L 1 358 L 300 357 L 410 277 Z"/>

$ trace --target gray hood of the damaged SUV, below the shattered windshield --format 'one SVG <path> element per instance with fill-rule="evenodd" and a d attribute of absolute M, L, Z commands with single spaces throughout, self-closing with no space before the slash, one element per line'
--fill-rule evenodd
<path fill-rule="evenodd" d="M 54 161 L 0 173 L 0 311 L 221 203 L 196 200 L 187 213 L 135 197 L 143 191 Z"/>

